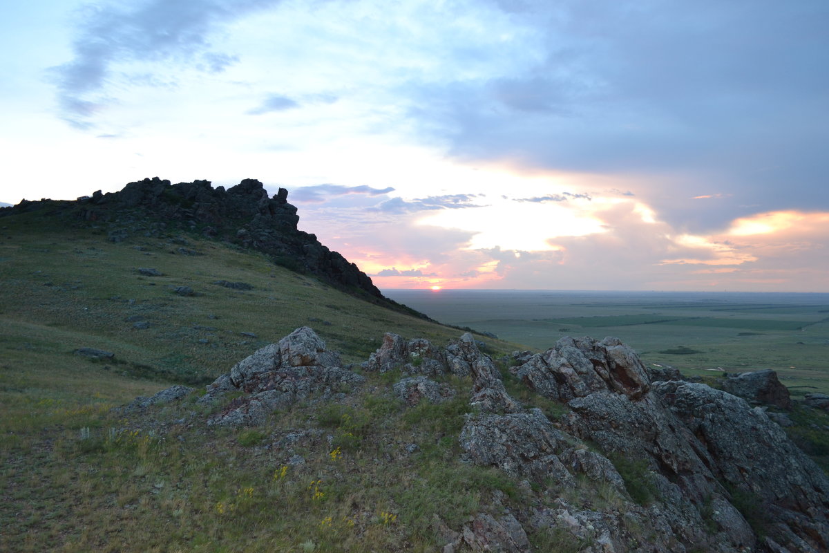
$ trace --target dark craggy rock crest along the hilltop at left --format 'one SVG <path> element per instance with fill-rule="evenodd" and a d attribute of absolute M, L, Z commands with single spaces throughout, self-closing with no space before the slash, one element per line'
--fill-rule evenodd
<path fill-rule="evenodd" d="M 70 214 L 97 225 L 106 225 L 109 240 L 130 235 L 153 236 L 174 226 L 201 232 L 245 249 L 269 255 L 277 264 L 300 270 L 337 288 L 400 308 L 383 297 L 371 278 L 336 251 L 322 245 L 317 236 L 298 230 L 297 208 L 288 203 L 288 191 L 279 188 L 269 196 L 261 182 L 247 178 L 225 190 L 210 181 L 179 182 L 158 177 L 130 182 L 119 192 L 83 196 L 77 201 L 22 201 L 0 210 L 0 216 L 50 209 L 50 214 Z M 182 254 L 197 255 L 184 250 Z M 414 313 L 413 314 L 419 314 Z"/>

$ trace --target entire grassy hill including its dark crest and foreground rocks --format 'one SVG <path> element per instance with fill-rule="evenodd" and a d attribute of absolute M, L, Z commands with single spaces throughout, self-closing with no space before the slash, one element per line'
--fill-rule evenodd
<path fill-rule="evenodd" d="M 829 544 L 829 483 L 792 441 L 827 453 L 822 410 L 612 339 L 462 336 L 325 250 L 280 258 L 309 240 L 261 222 L 295 215 L 281 193 L 240 226 L 181 200 L 201 184 L 128 188 L 0 211 L 0 550 Z"/>

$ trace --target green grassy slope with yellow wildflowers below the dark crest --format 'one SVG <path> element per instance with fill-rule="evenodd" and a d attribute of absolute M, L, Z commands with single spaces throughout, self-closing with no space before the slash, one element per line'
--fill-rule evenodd
<path fill-rule="evenodd" d="M 203 255 L 172 253 L 182 247 Z M 36 213 L 0 219 L 0 283 L 0 551 L 419 551 L 434 544 L 434 512 L 457 527 L 487 490 L 514 487 L 457 461 L 468 382 L 450 383 L 466 388 L 450 405 L 405 411 L 392 380 L 369 375 L 373 391 L 352 406 L 300 405 L 261 433 L 194 424 L 206 410 L 195 395 L 162 412 L 111 410 L 211 381 L 303 325 L 345 361 L 365 360 L 383 332 L 444 345 L 458 330 L 192 235 L 113 243 Z M 172 291 L 181 285 L 196 295 Z M 307 463 L 274 479 L 288 458 L 271 444 L 319 426 L 339 441 L 312 432 L 292 450 Z"/>

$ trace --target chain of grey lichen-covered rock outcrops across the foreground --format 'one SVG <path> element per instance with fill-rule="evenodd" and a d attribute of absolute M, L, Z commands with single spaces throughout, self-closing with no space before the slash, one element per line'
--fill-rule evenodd
<path fill-rule="evenodd" d="M 346 400 L 365 385 L 358 371 L 399 373 L 391 388 L 404 409 L 451 398 L 446 378 L 468 382 L 470 413 L 457 436 L 463 461 L 535 493 L 521 505 L 494 493 L 461 527 L 436 516 L 444 553 L 531 551 L 528 535 L 539 531 L 597 553 L 829 548 L 829 480 L 763 408 L 701 383 L 657 380 L 615 338 L 563 338 L 542 354 L 516 352 L 511 365 L 568 413 L 551 420 L 521 405 L 470 334 L 440 348 L 387 333 L 361 366 L 342 366 L 308 327 L 237 363 L 198 401 L 217 408 L 208 425 L 255 425 L 298 401 Z M 243 395 L 227 402 L 229 392 Z M 133 405 L 181 396 L 177 388 Z M 636 478 L 624 469 L 630 463 L 641 467 Z M 584 488 L 618 499 L 585 500 Z M 647 497 L 635 497 L 642 488 Z"/>

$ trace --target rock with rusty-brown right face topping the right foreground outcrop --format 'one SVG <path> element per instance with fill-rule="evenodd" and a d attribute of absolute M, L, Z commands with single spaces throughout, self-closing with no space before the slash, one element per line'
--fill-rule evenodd
<path fill-rule="evenodd" d="M 572 400 L 610 390 L 635 400 L 647 392 L 649 380 L 633 350 L 607 337 L 564 337 L 541 355 L 529 357 L 516 374 L 539 394 L 552 400 Z"/>

